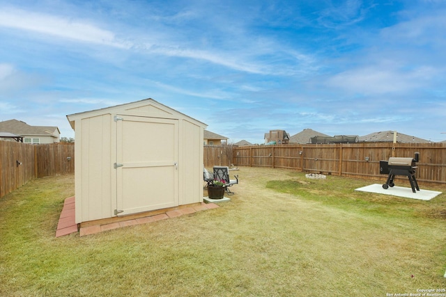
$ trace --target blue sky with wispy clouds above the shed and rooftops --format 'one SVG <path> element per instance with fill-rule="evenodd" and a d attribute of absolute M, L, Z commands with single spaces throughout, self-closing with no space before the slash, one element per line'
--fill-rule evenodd
<path fill-rule="evenodd" d="M 446 1 L 0 0 L 0 120 L 153 98 L 230 138 L 446 139 Z"/>

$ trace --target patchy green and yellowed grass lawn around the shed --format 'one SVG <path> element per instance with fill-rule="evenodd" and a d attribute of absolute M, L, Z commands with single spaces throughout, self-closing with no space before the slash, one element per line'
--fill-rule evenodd
<path fill-rule="evenodd" d="M 217 209 L 57 239 L 74 177 L 32 180 L 0 199 L 0 296 L 386 296 L 446 288 L 445 193 L 411 200 L 353 191 L 375 183 L 362 179 L 237 173 L 236 194 Z"/>

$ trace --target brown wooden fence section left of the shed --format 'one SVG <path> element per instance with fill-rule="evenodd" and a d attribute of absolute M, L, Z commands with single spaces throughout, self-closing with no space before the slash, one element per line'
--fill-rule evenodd
<path fill-rule="evenodd" d="M 0 198 L 30 179 L 73 173 L 74 162 L 75 146 L 72 144 L 0 141 Z"/>

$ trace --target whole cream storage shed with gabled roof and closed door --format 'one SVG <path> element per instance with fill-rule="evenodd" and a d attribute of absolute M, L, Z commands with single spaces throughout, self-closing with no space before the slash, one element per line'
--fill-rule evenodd
<path fill-rule="evenodd" d="M 203 201 L 203 122 L 150 98 L 67 118 L 76 223 Z"/>

